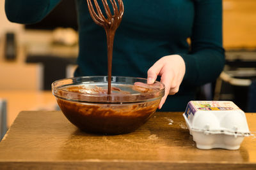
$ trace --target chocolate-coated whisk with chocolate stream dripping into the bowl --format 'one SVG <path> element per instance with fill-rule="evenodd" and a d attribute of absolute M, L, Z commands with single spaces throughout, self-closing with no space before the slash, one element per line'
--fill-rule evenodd
<path fill-rule="evenodd" d="M 115 32 L 120 22 L 122 21 L 122 17 L 124 15 L 124 4 L 122 0 L 109 0 L 112 8 L 113 8 L 113 15 L 111 10 L 108 6 L 107 0 L 101 0 L 104 6 L 104 10 L 106 13 L 106 17 L 100 10 L 100 6 L 97 0 L 93 0 L 94 6 L 97 10 L 97 13 L 94 10 L 92 0 L 87 0 L 88 9 L 93 21 L 102 27 L 104 27 L 107 35 L 107 44 L 108 44 L 108 94 L 111 94 L 111 70 L 112 70 L 112 55 L 113 55 L 113 43 Z M 117 3 L 118 5 L 117 5 Z"/>

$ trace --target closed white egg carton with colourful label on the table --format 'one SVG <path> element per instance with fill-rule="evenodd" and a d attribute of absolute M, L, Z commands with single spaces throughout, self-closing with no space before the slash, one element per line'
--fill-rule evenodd
<path fill-rule="evenodd" d="M 200 149 L 237 150 L 250 136 L 244 111 L 232 101 L 190 101 L 183 116 Z"/>

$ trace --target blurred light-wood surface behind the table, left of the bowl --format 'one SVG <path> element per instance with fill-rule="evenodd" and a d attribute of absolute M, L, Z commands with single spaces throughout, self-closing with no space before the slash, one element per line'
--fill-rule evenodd
<path fill-rule="evenodd" d="M 7 103 L 7 127 L 22 110 L 56 110 L 56 99 L 51 91 L 0 90 L 0 98 Z"/>

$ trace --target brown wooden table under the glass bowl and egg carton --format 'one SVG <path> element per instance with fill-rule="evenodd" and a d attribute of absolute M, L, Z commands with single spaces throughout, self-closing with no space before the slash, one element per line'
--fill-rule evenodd
<path fill-rule="evenodd" d="M 252 134 L 256 114 L 246 113 Z M 155 113 L 130 134 L 86 134 L 61 111 L 22 111 L 0 143 L 1 169 L 255 169 L 256 138 L 199 150 L 182 113 Z"/>

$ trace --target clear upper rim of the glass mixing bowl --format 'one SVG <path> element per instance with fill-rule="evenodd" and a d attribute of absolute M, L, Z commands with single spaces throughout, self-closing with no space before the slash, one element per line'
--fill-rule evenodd
<path fill-rule="evenodd" d="M 100 81 L 101 80 L 101 81 Z M 136 78 L 129 76 L 112 76 L 111 83 L 125 83 L 125 80 L 129 80 L 129 83 L 143 82 L 147 83 L 146 78 Z M 122 80 L 122 81 L 120 81 Z M 116 82 L 117 81 L 117 82 Z M 52 94 L 55 97 L 64 99 L 67 101 L 74 101 L 79 103 L 111 103 L 111 104 L 124 104 L 124 103 L 141 103 L 154 101 L 161 99 L 164 96 L 164 84 L 155 81 L 154 85 L 157 87 L 153 92 L 145 92 L 138 94 L 83 94 L 79 92 L 70 92 L 64 90 L 64 87 L 70 85 L 83 85 L 89 83 L 100 83 L 104 82 L 108 85 L 108 76 L 79 76 L 74 78 L 64 78 L 61 80 L 56 80 L 52 83 Z M 131 84 L 132 85 L 132 84 Z"/>

